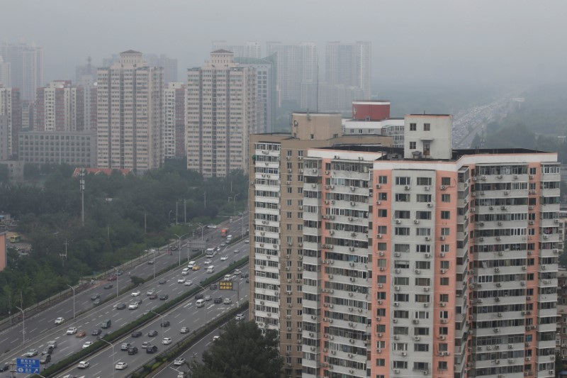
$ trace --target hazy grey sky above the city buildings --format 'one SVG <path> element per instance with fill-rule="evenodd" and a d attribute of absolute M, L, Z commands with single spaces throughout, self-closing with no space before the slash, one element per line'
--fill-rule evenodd
<path fill-rule="evenodd" d="M 564 1 L 4 0 L 0 37 L 45 50 L 45 80 L 73 79 L 123 50 L 164 53 L 185 69 L 213 40 L 370 40 L 376 84 L 512 84 L 563 79 Z M 373 89 L 373 93 L 376 88 Z"/>

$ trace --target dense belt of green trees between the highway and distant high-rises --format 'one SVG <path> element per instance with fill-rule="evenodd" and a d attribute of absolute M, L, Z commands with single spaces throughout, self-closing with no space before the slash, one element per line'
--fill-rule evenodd
<path fill-rule="evenodd" d="M 9 250 L 8 267 L 0 272 L 0 316 L 163 245 L 174 234 L 191 233 L 196 223 L 233 216 L 247 201 L 242 173 L 205 180 L 173 161 L 141 177 L 87 175 L 82 226 L 79 179 L 72 172 L 60 165 L 37 184 L 0 184 L 0 213 L 15 218 L 32 245 L 27 257 Z"/>

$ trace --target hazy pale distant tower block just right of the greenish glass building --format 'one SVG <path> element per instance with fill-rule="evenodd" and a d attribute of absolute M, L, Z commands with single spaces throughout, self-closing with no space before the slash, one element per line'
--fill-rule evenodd
<path fill-rule="evenodd" d="M 310 101 L 302 102 L 302 84 L 315 85 L 317 82 L 317 45 L 312 42 L 285 44 L 268 42 L 267 54 L 276 53 L 277 85 L 279 90 L 279 106 L 290 106 L 298 109 L 301 104 L 305 108 L 315 109 L 313 96 Z M 305 97 L 306 92 L 303 91 Z M 316 97 L 316 96 L 315 96 Z"/>

